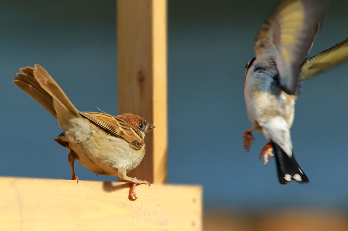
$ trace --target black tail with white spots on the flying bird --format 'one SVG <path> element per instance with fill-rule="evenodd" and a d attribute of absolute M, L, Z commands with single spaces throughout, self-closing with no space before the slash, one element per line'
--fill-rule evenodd
<path fill-rule="evenodd" d="M 276 156 L 279 183 L 285 185 L 291 180 L 301 184 L 309 183 L 308 177 L 296 162 L 294 153 L 289 157 L 278 144 L 273 141 L 271 143 Z"/>

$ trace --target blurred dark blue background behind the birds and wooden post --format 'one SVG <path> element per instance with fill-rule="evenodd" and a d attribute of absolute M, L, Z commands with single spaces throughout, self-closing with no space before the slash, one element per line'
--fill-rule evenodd
<path fill-rule="evenodd" d="M 258 155 L 266 140 L 251 127 L 244 67 L 255 34 L 278 1 L 168 1 L 168 182 L 200 184 L 205 208 L 348 208 L 348 64 L 302 84 L 291 129 L 296 159 L 310 184 L 280 185 L 275 160 Z M 310 55 L 348 35 L 348 1 L 333 0 Z M 19 68 L 40 64 L 81 111 L 117 115 L 116 5 L 113 0 L 1 1 L 1 176 L 70 179 L 62 131 L 13 85 Z M 81 180 L 95 176 L 76 163 Z"/>

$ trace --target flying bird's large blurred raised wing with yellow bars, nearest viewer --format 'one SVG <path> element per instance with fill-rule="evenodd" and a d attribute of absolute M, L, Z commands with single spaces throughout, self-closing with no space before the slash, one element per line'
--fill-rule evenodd
<path fill-rule="evenodd" d="M 280 85 L 287 94 L 296 92 L 300 66 L 324 24 L 326 2 L 285 0 L 261 26 L 256 36 L 256 59 L 267 55 L 274 57 Z"/>

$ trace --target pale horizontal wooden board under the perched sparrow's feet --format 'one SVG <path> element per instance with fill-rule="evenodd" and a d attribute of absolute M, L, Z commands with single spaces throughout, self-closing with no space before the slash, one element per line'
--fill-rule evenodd
<path fill-rule="evenodd" d="M 0 230 L 201 230 L 200 186 L 0 177 Z"/>

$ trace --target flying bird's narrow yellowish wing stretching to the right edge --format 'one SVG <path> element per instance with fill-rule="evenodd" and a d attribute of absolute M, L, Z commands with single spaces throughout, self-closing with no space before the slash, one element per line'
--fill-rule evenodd
<path fill-rule="evenodd" d="M 301 67 L 299 80 L 308 80 L 348 59 L 348 38 L 311 57 Z"/>

